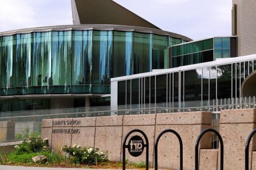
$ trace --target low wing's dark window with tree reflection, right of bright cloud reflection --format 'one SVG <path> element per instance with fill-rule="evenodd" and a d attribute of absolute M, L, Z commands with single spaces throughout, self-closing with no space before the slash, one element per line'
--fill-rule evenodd
<path fill-rule="evenodd" d="M 218 66 L 217 72 L 217 92 L 218 99 L 231 98 L 232 92 L 232 69 L 231 64 Z"/>

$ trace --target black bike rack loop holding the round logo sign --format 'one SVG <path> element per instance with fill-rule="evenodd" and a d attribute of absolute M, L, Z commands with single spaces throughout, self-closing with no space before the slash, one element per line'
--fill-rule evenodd
<path fill-rule="evenodd" d="M 140 129 L 133 129 L 132 131 L 128 132 L 128 134 L 124 138 L 124 142 L 123 142 L 123 170 L 126 169 L 126 148 L 127 148 L 126 147 L 126 141 L 127 141 L 127 138 L 129 137 L 129 135 L 132 134 L 133 132 L 139 132 L 140 134 L 143 135 L 143 137 L 146 140 L 146 144 L 144 144 L 144 147 L 147 148 L 147 150 L 146 150 L 146 170 L 148 170 L 149 169 L 149 140 L 148 140 L 147 135 L 143 131 L 141 131 Z"/>

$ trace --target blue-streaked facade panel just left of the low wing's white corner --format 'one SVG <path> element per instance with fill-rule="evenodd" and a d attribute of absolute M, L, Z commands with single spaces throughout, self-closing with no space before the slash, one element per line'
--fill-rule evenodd
<path fill-rule="evenodd" d="M 110 92 L 110 59 L 113 53 L 113 32 L 93 31 L 93 93 Z"/>

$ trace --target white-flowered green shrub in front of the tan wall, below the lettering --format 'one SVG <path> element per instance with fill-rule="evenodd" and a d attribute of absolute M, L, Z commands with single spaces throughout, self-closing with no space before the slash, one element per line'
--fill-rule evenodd
<path fill-rule="evenodd" d="M 98 148 L 84 147 L 74 144 L 73 147 L 63 146 L 62 151 L 69 155 L 71 163 L 96 165 L 103 161 L 109 161 L 108 152 Z"/>

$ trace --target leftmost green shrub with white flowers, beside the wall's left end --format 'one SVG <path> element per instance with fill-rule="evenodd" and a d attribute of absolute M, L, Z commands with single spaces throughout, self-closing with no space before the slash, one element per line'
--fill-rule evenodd
<path fill-rule="evenodd" d="M 49 151 L 49 141 L 48 138 L 42 139 L 41 136 L 29 137 L 28 140 L 15 146 L 15 154 L 17 155 L 42 151 Z"/>

